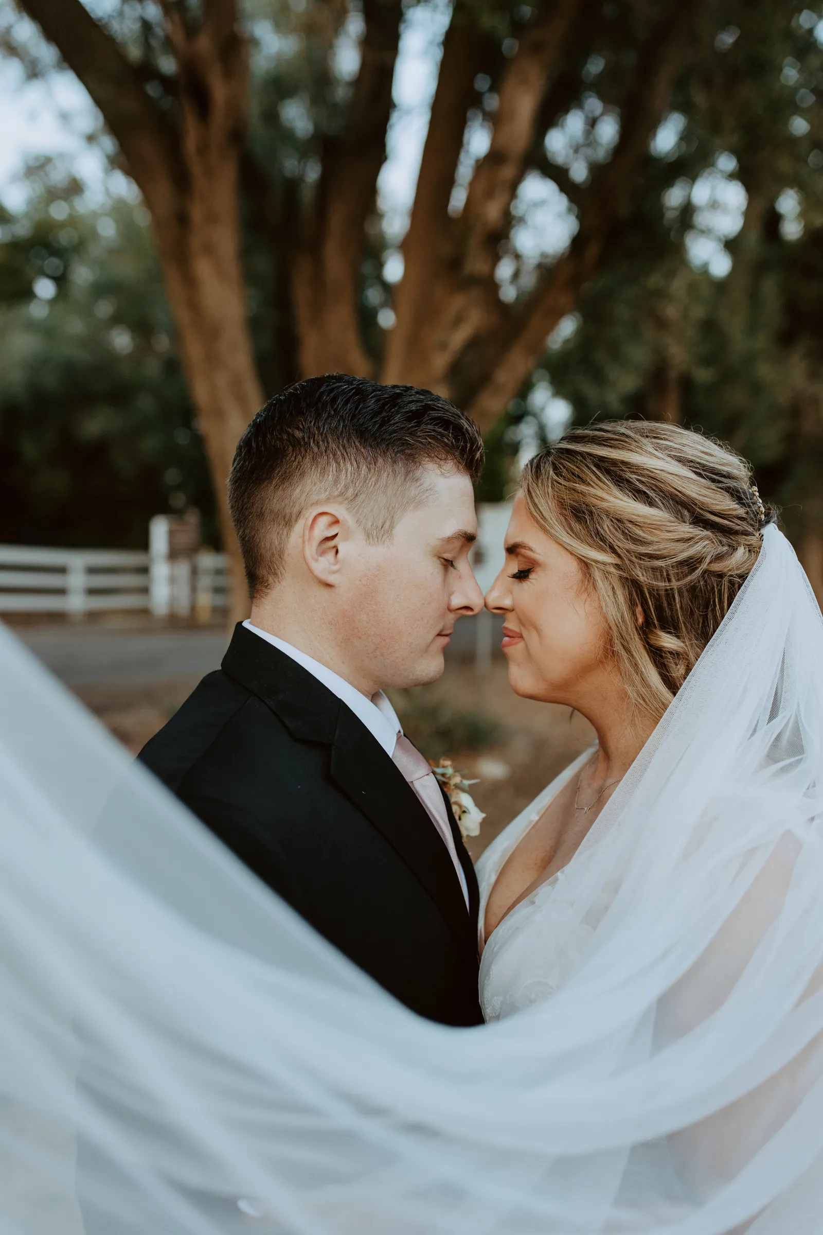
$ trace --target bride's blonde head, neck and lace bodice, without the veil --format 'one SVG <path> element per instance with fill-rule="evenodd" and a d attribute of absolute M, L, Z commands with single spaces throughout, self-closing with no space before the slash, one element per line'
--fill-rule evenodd
<path fill-rule="evenodd" d="M 547 998 L 576 960 L 547 952 L 543 918 L 556 911 L 558 884 L 726 616 L 771 521 L 739 458 L 670 425 L 573 430 L 527 464 L 508 564 L 486 606 L 505 616 L 512 689 L 574 708 L 597 743 L 480 861 L 486 1020 Z"/>

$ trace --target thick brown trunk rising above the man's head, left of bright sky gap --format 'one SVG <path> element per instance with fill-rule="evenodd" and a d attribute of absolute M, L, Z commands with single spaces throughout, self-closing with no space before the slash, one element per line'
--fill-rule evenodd
<path fill-rule="evenodd" d="M 296 266 L 304 373 L 368 373 L 359 333 L 365 221 L 386 151 L 401 0 L 365 0 L 360 70 L 345 131 L 326 143 L 317 216 Z"/>

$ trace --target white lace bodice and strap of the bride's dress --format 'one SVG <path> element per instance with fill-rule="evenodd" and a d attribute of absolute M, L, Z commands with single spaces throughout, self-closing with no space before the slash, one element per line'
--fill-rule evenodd
<path fill-rule="evenodd" d="M 506 860 L 590 755 L 591 751 L 584 751 L 555 777 L 492 841 L 478 862 L 481 939 L 489 894 Z M 564 916 L 564 879 L 565 869 L 561 869 L 542 883 L 506 914 L 486 941 L 480 962 L 480 1007 L 486 1020 L 511 1016 L 512 1013 L 552 995 L 591 937 L 591 926 L 581 923 L 571 936 L 568 931 L 563 932 L 561 948 L 556 945 L 554 929 Z"/>

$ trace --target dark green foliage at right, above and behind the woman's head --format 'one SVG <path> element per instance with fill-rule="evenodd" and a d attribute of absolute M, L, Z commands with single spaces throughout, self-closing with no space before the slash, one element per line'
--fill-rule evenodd
<path fill-rule="evenodd" d="M 672 100 L 680 132 L 542 363 L 577 424 L 674 415 L 730 443 L 797 538 L 823 530 L 823 40 L 792 12 L 711 11 L 724 25 Z M 735 194 L 743 226 L 723 235 Z"/>

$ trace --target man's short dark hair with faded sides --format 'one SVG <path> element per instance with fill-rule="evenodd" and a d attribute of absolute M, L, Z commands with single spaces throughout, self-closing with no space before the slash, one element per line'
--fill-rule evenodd
<path fill-rule="evenodd" d="M 431 390 L 345 373 L 287 387 L 241 437 L 228 478 L 249 592 L 283 576 L 289 536 L 315 503 L 345 503 L 379 543 L 424 498 L 424 467 L 476 480 L 482 458 L 476 425 Z"/>

